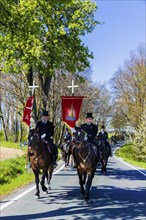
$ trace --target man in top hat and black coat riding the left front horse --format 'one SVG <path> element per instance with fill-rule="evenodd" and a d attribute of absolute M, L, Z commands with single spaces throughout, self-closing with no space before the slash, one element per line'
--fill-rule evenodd
<path fill-rule="evenodd" d="M 41 121 L 37 122 L 36 128 L 39 129 L 39 134 L 45 144 L 51 145 L 51 150 L 53 151 L 53 163 L 54 166 L 58 166 L 56 163 L 58 157 L 58 148 L 53 143 L 52 136 L 54 134 L 54 126 L 53 123 L 48 120 L 48 111 L 43 111 Z"/>

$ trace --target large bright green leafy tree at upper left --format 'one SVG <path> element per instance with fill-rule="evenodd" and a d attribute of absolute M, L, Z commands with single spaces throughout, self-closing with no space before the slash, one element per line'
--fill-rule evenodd
<path fill-rule="evenodd" d="M 0 0 L 0 68 L 39 79 L 46 107 L 57 69 L 75 73 L 89 66 L 93 54 L 81 36 L 99 22 L 91 0 Z"/>

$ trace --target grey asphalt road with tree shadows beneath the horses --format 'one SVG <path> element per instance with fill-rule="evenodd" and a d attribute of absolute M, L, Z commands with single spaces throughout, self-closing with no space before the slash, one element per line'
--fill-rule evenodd
<path fill-rule="evenodd" d="M 60 169 L 60 170 L 58 170 Z M 76 169 L 59 163 L 49 194 L 35 199 L 34 183 L 1 201 L 4 220 L 146 220 L 146 172 L 119 158 L 109 158 L 107 174 L 98 167 L 90 195 L 80 196 Z"/>

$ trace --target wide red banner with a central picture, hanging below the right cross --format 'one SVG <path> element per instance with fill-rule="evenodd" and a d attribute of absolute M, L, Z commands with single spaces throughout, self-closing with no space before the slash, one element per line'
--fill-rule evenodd
<path fill-rule="evenodd" d="M 84 96 L 61 96 L 62 121 L 71 128 L 74 128 L 75 122 L 79 119 L 83 98 Z"/>

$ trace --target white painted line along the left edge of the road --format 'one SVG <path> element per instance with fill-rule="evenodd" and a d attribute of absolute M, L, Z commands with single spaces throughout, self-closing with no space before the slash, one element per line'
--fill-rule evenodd
<path fill-rule="evenodd" d="M 57 174 L 60 170 L 63 169 L 63 167 L 64 167 L 64 165 L 61 166 L 59 169 L 57 169 L 57 170 L 53 173 L 53 175 Z M 10 204 L 16 202 L 18 199 L 20 199 L 21 197 L 23 197 L 24 195 L 26 195 L 26 194 L 29 193 L 30 191 L 34 190 L 35 187 L 36 187 L 36 186 L 31 187 L 30 189 L 28 189 L 28 190 L 26 190 L 25 192 L 21 193 L 20 195 L 16 196 L 14 199 L 12 199 L 12 200 L 6 202 L 5 204 L 1 205 L 1 206 L 0 206 L 0 210 L 3 210 L 4 208 L 6 208 L 7 206 L 9 206 Z"/>

